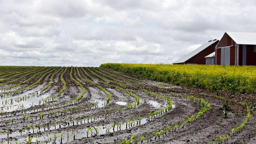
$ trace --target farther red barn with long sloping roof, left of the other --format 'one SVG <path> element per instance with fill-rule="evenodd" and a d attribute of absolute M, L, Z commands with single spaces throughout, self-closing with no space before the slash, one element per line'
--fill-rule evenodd
<path fill-rule="evenodd" d="M 206 64 L 205 56 L 213 53 L 215 51 L 215 46 L 219 40 L 209 40 L 199 48 L 188 53 L 184 57 L 180 58 L 177 61 L 174 61 L 173 64 Z"/>

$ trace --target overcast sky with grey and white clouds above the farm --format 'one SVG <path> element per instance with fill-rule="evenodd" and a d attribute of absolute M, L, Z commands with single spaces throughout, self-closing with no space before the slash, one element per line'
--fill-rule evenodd
<path fill-rule="evenodd" d="M 0 0 L 0 65 L 170 64 L 256 32 L 255 14 L 255 0 Z"/>

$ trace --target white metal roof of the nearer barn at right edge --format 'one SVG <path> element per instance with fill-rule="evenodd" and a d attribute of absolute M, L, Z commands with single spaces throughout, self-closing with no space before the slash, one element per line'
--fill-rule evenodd
<path fill-rule="evenodd" d="M 256 45 L 256 33 L 226 32 L 237 44 Z"/>

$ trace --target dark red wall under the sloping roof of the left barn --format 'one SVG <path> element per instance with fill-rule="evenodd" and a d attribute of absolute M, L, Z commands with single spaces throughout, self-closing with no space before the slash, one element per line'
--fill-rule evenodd
<path fill-rule="evenodd" d="M 206 49 L 202 50 L 198 54 L 196 54 L 191 59 L 187 60 L 185 63 L 197 63 L 197 64 L 206 64 L 206 58 L 205 56 L 213 53 L 215 51 L 215 46 L 217 45 L 218 40 L 216 40 L 215 43 L 207 47 Z"/>

